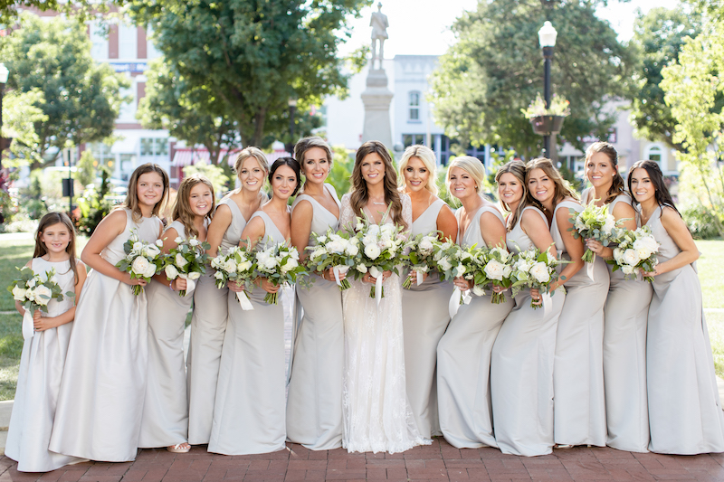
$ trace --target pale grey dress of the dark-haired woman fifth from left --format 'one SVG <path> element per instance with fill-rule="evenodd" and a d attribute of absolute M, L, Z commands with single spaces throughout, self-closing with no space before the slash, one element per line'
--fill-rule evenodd
<path fill-rule="evenodd" d="M 257 211 L 249 221 L 256 217 L 264 222 L 256 250 L 284 241 L 267 213 Z M 209 452 L 248 455 L 286 448 L 284 311 L 281 299 L 279 305 L 268 305 L 265 296 L 255 286 L 249 293 L 254 309 L 243 311 L 236 293 L 229 291 Z"/>

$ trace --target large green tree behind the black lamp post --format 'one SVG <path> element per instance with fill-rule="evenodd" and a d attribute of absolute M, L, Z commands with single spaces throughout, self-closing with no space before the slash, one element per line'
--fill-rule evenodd
<path fill-rule="evenodd" d="M 481 0 L 452 26 L 458 42 L 440 58 L 431 79 L 435 118 L 450 137 L 512 146 L 521 156 L 538 155 L 542 137 L 520 109 L 543 91 L 543 56 L 538 29 L 557 29 L 551 91 L 570 100 L 571 115 L 560 133 L 577 148 L 582 138 L 606 137 L 615 112 L 608 100 L 629 95 L 635 56 L 595 16 L 595 0 Z"/>

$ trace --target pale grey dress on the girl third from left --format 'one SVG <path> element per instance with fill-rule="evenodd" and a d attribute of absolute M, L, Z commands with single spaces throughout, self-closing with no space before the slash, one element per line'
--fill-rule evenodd
<path fill-rule="evenodd" d="M 186 229 L 171 222 L 177 237 L 186 240 Z M 163 236 L 162 236 L 163 237 Z M 208 269 L 208 268 L 207 268 Z M 184 366 L 184 329 L 194 291 L 181 297 L 152 280 L 148 296 L 148 383 L 138 447 L 168 447 L 188 439 L 188 400 Z"/>

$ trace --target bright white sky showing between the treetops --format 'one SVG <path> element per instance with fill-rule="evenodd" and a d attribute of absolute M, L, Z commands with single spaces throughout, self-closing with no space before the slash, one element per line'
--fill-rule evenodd
<path fill-rule="evenodd" d="M 360 18 L 351 22 L 352 37 L 340 49 L 342 54 L 370 42 L 372 30 L 369 17 L 377 10 L 377 1 L 374 6 L 365 8 Z M 385 58 L 391 59 L 397 54 L 443 54 L 454 42 L 450 32 L 452 23 L 464 10 L 472 10 L 477 4 L 477 0 L 382 0 L 382 13 L 387 15 L 390 24 Z M 611 0 L 597 14 L 614 27 L 620 41 L 627 42 L 633 36 L 637 9 L 646 13 L 654 6 L 672 8 L 676 4 L 677 0 L 631 0 L 626 3 Z"/>

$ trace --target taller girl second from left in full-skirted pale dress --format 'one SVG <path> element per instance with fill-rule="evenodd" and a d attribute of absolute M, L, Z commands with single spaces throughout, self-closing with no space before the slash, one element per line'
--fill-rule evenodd
<path fill-rule="evenodd" d="M 50 449 L 109 462 L 136 458 L 148 360 L 148 303 L 144 279 L 116 268 L 132 234 L 153 242 L 168 175 L 144 164 L 130 176 L 125 203 L 90 237 L 81 259 L 93 270 L 78 300 Z"/>

